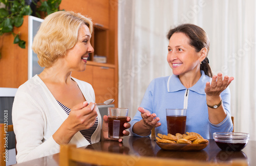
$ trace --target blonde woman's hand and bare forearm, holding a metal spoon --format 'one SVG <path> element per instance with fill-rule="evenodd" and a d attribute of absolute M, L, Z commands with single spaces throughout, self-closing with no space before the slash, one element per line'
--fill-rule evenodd
<path fill-rule="evenodd" d="M 98 116 L 94 103 L 87 101 L 75 105 L 68 118 L 61 124 L 52 135 L 57 144 L 68 144 L 72 137 L 80 130 L 93 126 Z"/>

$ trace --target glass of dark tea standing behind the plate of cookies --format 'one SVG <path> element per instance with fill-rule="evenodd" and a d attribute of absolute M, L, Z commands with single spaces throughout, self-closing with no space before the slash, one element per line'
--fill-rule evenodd
<path fill-rule="evenodd" d="M 175 135 L 186 131 L 187 109 L 166 109 L 167 132 Z"/>

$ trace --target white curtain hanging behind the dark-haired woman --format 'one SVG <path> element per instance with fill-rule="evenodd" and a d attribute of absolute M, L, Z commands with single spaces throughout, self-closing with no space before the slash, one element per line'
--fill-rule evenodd
<path fill-rule="evenodd" d="M 137 112 L 156 77 L 172 74 L 166 57 L 170 27 L 193 23 L 210 39 L 212 72 L 233 76 L 231 116 L 234 130 L 256 138 L 256 2 L 254 0 L 119 0 L 119 102 Z"/>

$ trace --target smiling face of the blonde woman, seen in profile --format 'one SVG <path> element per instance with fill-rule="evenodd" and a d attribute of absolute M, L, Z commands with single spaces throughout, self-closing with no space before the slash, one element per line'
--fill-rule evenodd
<path fill-rule="evenodd" d="M 78 33 L 78 41 L 71 49 L 67 50 L 65 59 L 72 71 L 86 70 L 86 63 L 90 52 L 94 49 L 90 43 L 91 33 L 87 25 L 82 24 Z"/>

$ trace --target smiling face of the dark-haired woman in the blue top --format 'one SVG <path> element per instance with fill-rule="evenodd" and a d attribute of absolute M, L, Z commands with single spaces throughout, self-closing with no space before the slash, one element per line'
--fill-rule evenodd
<path fill-rule="evenodd" d="M 189 44 L 190 40 L 184 33 L 174 33 L 169 39 L 167 62 L 175 75 L 187 75 L 200 72 L 202 51 Z"/>

